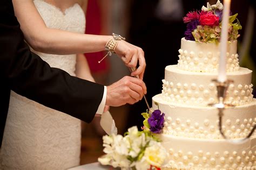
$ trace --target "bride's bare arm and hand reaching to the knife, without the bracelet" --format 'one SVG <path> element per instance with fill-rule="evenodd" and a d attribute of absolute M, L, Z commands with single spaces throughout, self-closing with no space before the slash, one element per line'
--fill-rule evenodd
<path fill-rule="evenodd" d="M 104 51 L 106 42 L 112 36 L 79 34 L 46 27 L 32 0 L 12 0 L 15 15 L 21 24 L 25 40 L 36 51 L 50 54 L 78 54 Z M 146 63 L 141 48 L 120 40 L 116 47 L 118 56 L 128 67 L 138 69 L 131 75 L 143 78 Z"/>

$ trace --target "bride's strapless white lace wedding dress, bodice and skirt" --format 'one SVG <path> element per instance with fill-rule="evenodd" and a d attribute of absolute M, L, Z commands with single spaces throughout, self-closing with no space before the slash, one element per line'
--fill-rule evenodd
<path fill-rule="evenodd" d="M 35 0 L 34 3 L 48 27 L 84 33 L 85 16 L 78 4 L 63 13 L 44 1 Z M 75 75 L 75 54 L 35 53 L 51 67 Z M 80 128 L 79 119 L 11 91 L 2 143 L 2 169 L 67 169 L 78 166 Z"/>

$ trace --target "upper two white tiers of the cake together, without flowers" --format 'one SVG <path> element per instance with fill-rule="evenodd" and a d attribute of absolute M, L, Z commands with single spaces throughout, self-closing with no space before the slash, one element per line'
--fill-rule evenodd
<path fill-rule="evenodd" d="M 217 79 L 219 45 L 181 39 L 178 65 L 165 68 L 162 98 L 166 102 L 206 106 L 218 101 L 212 80 Z M 233 80 L 227 90 L 226 103 L 244 105 L 252 101 L 252 71 L 239 67 L 237 41 L 227 49 L 227 79 Z"/>

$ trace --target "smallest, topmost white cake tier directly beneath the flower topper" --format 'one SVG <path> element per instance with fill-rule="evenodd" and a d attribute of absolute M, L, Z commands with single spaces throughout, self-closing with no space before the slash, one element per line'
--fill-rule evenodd
<path fill-rule="evenodd" d="M 218 72 L 219 45 L 181 39 L 178 68 L 192 72 Z M 239 70 L 237 41 L 227 46 L 227 72 Z"/>

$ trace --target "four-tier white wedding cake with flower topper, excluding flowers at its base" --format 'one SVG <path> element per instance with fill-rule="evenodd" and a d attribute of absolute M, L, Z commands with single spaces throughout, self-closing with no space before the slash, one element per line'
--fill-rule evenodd
<path fill-rule="evenodd" d="M 220 44 L 217 41 L 221 17 L 218 12 L 221 15 L 222 9 L 218 1 L 215 5 L 203 6 L 201 12 L 190 12 L 184 17 L 190 32 L 181 39 L 178 64 L 165 68 L 162 93 L 152 98 L 153 110 L 159 109 L 165 114 L 164 127 L 158 135 L 169 153 L 163 167 L 256 169 L 256 133 L 242 143 L 224 139 L 219 131 L 218 109 L 208 106 L 218 102 L 212 80 L 217 79 L 219 67 Z M 214 16 L 207 16 L 210 13 Z M 202 24 L 204 17 L 213 18 L 213 25 Z M 239 22 L 233 23 L 234 20 L 226 53 L 227 79 L 233 82 L 227 89 L 225 102 L 233 107 L 225 108 L 222 129 L 227 137 L 237 141 L 245 138 L 256 124 L 256 99 L 252 95 L 252 71 L 239 67 L 236 39 L 241 27 Z M 206 31 L 211 29 L 215 37 L 209 39 Z"/>

